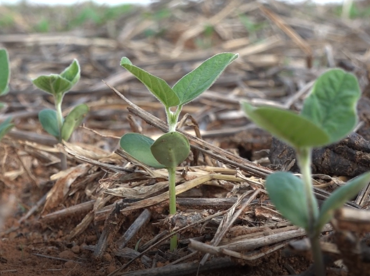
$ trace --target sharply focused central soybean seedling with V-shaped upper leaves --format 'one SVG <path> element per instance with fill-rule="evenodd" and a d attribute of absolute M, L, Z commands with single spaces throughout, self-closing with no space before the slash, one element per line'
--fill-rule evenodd
<path fill-rule="evenodd" d="M 171 88 L 163 79 L 155 77 L 133 65 L 123 57 L 121 66 L 131 72 L 163 104 L 166 110 L 169 132 L 156 141 L 139 134 L 126 133 L 122 136 L 121 148 L 140 162 L 154 167 L 166 168 L 169 179 L 170 214 L 176 213 L 175 173 L 176 167 L 185 161 L 190 152 L 188 139 L 176 132 L 176 125 L 182 106 L 193 101 L 207 90 L 221 75 L 222 71 L 238 57 L 233 53 L 215 55 L 189 74 L 182 77 Z M 171 108 L 174 110 L 172 111 Z M 177 246 L 177 236 L 170 241 L 170 250 Z"/>

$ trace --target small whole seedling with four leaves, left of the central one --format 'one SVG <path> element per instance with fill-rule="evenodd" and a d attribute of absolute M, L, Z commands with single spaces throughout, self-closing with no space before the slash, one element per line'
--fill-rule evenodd
<path fill-rule="evenodd" d="M 39 121 L 42 127 L 50 135 L 54 136 L 59 143 L 62 140 L 69 140 L 74 129 L 78 127 L 83 118 L 89 112 L 85 104 L 74 106 L 72 111 L 63 118 L 62 101 L 64 95 L 80 79 L 80 66 L 74 60 L 62 73 L 42 75 L 32 80 L 32 83 L 39 89 L 51 94 L 54 97 L 55 110 L 44 109 L 39 112 Z M 67 156 L 61 153 L 61 168 L 67 169 Z"/>

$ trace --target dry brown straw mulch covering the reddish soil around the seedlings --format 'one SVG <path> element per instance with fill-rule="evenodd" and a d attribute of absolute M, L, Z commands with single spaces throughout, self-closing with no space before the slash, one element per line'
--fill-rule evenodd
<path fill-rule="evenodd" d="M 356 5 L 365 9 L 369 4 Z M 44 10 L 44 16 L 66 24 L 69 19 L 58 16 L 57 9 Z M 0 143 L 5 225 L 0 272 L 313 275 L 304 231 L 275 211 L 264 190 L 266 176 L 288 170 L 294 159 L 271 164 L 271 136 L 250 124 L 239 102 L 299 110 L 313 81 L 328 67 L 340 66 L 359 78 L 365 107 L 357 133 L 367 138 L 370 23 L 368 18 L 341 18 L 336 10 L 310 3 L 162 0 L 106 24 L 86 22 L 84 29 L 41 34 L 30 28 L 40 8 L 0 6 L 0 15 L 14 15 L 14 24 L 0 30 L 12 69 L 0 121 L 11 116 L 16 125 Z M 120 59 L 126 56 L 174 84 L 226 51 L 239 58 L 183 108 L 178 127 L 192 152 L 177 168 L 178 212 L 169 216 L 167 171 L 132 160 L 118 146 L 126 132 L 155 138 L 166 131 L 163 107 L 119 66 Z M 53 108 L 52 99 L 30 80 L 59 73 L 74 58 L 82 76 L 63 107 L 67 114 L 86 103 L 90 113 L 61 145 L 37 119 L 40 110 Z M 362 154 L 367 168 L 366 145 L 356 154 Z M 68 170 L 59 170 L 59 152 L 68 154 Z M 316 196 L 325 199 L 349 176 L 354 175 L 319 168 Z M 356 210 L 368 208 L 369 191 L 362 191 L 347 204 L 351 209 L 338 212 L 322 231 L 330 275 L 370 273 L 369 215 Z M 179 247 L 172 253 L 173 231 Z"/>

